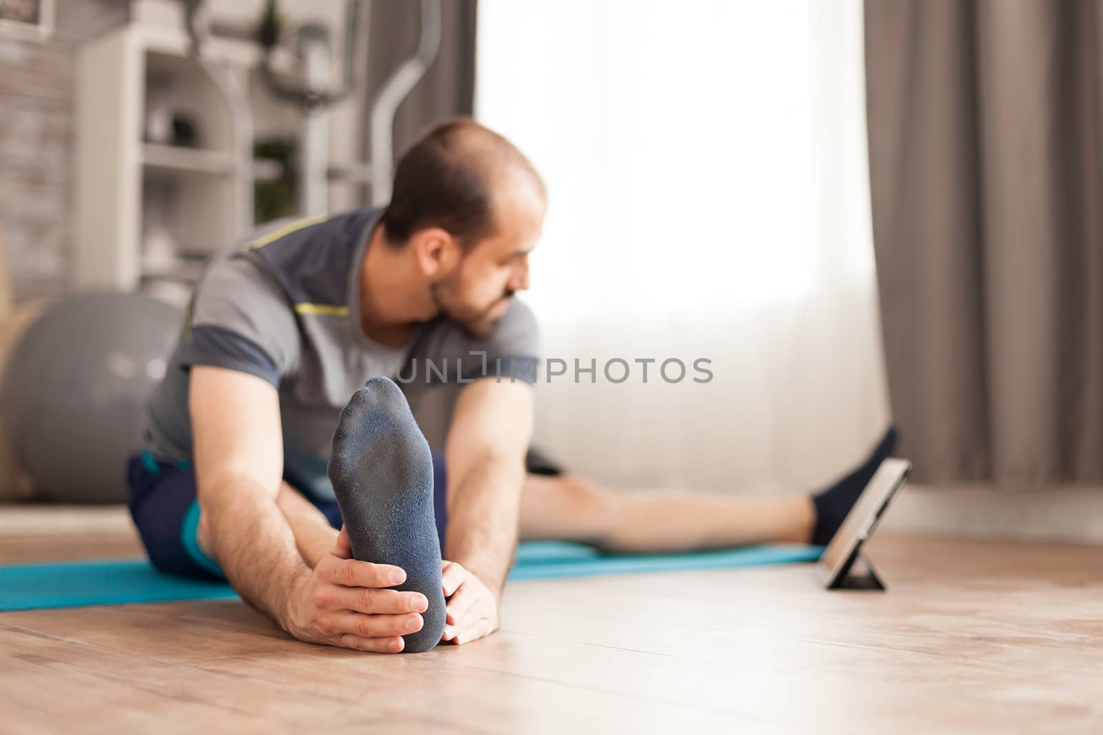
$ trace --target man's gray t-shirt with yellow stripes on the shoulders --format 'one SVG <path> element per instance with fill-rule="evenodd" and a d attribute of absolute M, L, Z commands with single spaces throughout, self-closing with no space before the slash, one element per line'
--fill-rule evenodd
<path fill-rule="evenodd" d="M 381 209 L 299 220 L 256 235 L 214 260 L 192 293 L 164 380 L 150 401 L 147 447 L 191 461 L 189 368 L 212 365 L 264 378 L 279 391 L 283 476 L 315 500 L 333 499 L 326 475 L 338 417 L 375 376 L 396 380 L 430 444 L 440 447 L 460 388 L 480 377 L 535 382 L 537 331 L 514 299 L 485 341 L 439 317 L 400 349 L 360 325 L 360 271 Z M 432 426 L 422 415 L 432 414 Z"/>

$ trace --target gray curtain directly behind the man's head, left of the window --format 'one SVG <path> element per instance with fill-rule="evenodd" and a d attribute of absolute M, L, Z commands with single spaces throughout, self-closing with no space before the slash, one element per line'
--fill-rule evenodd
<path fill-rule="evenodd" d="M 392 73 L 417 51 L 421 3 L 372 0 L 368 3 L 365 109 Z M 475 0 L 441 0 L 440 53 L 428 73 L 403 100 L 395 117 L 395 160 L 433 122 L 474 110 Z M 362 151 L 366 158 L 367 151 Z"/>

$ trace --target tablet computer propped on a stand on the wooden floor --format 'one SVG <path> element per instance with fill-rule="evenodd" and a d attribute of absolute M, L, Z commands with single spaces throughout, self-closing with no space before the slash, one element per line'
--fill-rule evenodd
<path fill-rule="evenodd" d="M 861 544 L 874 532 L 877 521 L 888 508 L 897 490 L 911 471 L 907 460 L 889 457 L 874 473 L 858 501 L 850 508 L 843 525 L 820 558 L 820 576 L 828 590 L 884 590 L 885 585 L 861 555 Z M 861 569 L 865 568 L 865 569 Z"/>

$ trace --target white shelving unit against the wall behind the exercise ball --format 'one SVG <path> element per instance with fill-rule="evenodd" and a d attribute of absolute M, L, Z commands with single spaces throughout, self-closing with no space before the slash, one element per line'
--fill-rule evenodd
<path fill-rule="evenodd" d="M 133 291 L 186 282 L 253 221 L 254 44 L 214 39 L 203 60 L 183 32 L 133 23 L 86 44 L 76 73 L 74 284 Z M 148 142 L 147 99 L 172 88 L 194 147 Z M 148 252 L 156 234 L 160 248 Z M 171 247 L 170 247 L 171 244 Z"/>

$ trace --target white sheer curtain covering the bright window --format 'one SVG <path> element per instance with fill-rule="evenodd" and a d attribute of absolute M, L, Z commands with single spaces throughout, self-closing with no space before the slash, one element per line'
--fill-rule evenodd
<path fill-rule="evenodd" d="M 538 443 L 603 482 L 726 491 L 857 460 L 888 423 L 860 0 L 481 0 L 478 39 L 476 116 L 550 192 L 527 301 L 569 369 L 538 388 Z M 690 371 L 644 383 L 643 358 Z"/>

